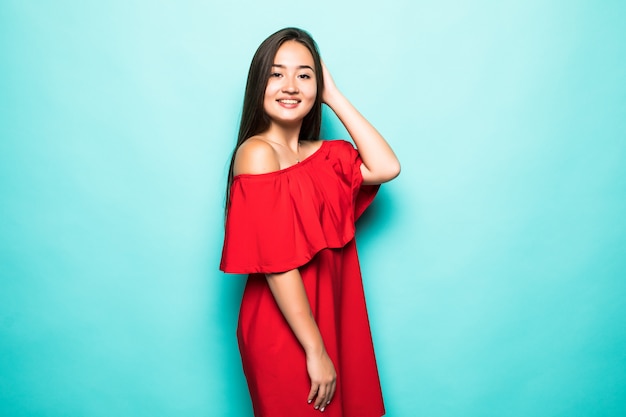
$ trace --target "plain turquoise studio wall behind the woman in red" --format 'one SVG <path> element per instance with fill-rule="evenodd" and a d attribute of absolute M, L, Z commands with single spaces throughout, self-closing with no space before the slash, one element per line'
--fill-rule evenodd
<path fill-rule="evenodd" d="M 626 415 L 624 22 L 3 0 L 0 415 L 251 415 L 223 191 L 252 55 L 290 25 L 403 164 L 358 236 L 387 415 Z"/>

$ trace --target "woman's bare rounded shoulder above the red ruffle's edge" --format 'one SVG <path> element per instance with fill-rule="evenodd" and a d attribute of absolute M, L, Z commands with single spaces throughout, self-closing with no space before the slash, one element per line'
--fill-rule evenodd
<path fill-rule="evenodd" d="M 280 165 L 274 148 L 258 137 L 253 136 L 247 139 L 237 149 L 234 175 L 266 174 L 279 169 Z"/>

